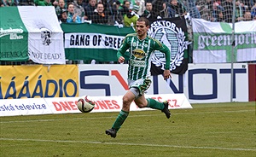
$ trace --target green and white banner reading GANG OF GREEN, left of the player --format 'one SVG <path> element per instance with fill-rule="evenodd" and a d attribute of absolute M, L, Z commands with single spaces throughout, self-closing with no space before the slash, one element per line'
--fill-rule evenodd
<path fill-rule="evenodd" d="M 117 49 L 132 27 L 62 23 L 68 60 L 117 61 Z"/>

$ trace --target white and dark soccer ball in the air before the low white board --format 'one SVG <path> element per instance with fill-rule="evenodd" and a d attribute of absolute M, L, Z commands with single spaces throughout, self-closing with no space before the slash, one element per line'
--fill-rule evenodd
<path fill-rule="evenodd" d="M 79 99 L 77 106 L 82 113 L 90 113 L 95 106 L 95 102 L 90 98 L 90 96 L 84 96 L 84 99 Z"/>

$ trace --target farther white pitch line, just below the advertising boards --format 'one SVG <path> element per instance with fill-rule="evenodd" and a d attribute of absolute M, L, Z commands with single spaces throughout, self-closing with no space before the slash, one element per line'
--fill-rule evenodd
<path fill-rule="evenodd" d="M 253 110 L 238 110 L 238 111 L 221 111 L 221 112 L 205 112 L 205 113 L 245 113 L 245 112 L 254 112 Z M 182 114 L 202 114 L 202 113 L 172 113 L 172 115 L 182 115 Z M 44 114 L 42 114 L 44 115 Z M 57 115 L 57 114 L 56 114 Z M 152 117 L 152 116 L 161 116 L 162 114 L 140 114 L 140 115 L 129 115 L 129 118 L 132 117 Z M 1 117 L 0 117 L 1 118 Z M 116 116 L 110 117 L 84 117 L 84 118 L 74 118 L 77 119 L 115 119 Z M 49 122 L 49 121 L 60 121 L 60 120 L 74 120 L 74 119 L 35 119 L 35 120 L 17 120 L 17 121 L 0 121 L 0 124 L 6 123 L 30 123 L 30 122 Z"/>

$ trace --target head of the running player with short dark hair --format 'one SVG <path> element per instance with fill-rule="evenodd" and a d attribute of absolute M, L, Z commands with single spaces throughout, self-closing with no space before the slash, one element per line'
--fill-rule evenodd
<path fill-rule="evenodd" d="M 149 28 L 149 20 L 145 17 L 140 17 L 136 22 L 136 32 L 139 38 L 145 38 L 147 36 Z"/>

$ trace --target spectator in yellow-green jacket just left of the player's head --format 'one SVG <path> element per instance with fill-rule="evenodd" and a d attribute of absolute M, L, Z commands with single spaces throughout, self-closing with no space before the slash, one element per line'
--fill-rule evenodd
<path fill-rule="evenodd" d="M 129 13 L 124 16 L 124 25 L 133 26 L 136 29 L 136 21 L 139 18 L 139 15 L 136 14 L 136 9 L 129 9 Z"/>

